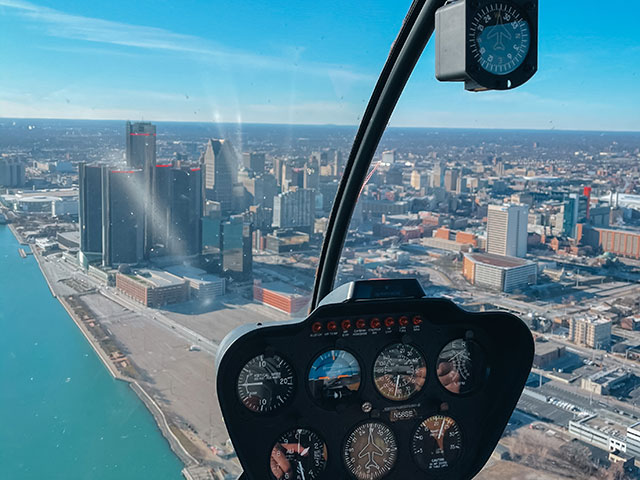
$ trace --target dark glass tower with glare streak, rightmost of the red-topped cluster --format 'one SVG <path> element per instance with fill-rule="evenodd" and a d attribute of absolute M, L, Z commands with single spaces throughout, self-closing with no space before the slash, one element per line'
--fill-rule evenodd
<path fill-rule="evenodd" d="M 202 170 L 156 165 L 147 210 L 148 255 L 192 256 L 202 252 Z"/>

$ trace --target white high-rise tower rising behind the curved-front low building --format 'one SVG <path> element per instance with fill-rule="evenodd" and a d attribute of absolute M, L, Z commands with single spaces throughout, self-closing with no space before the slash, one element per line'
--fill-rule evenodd
<path fill-rule="evenodd" d="M 527 255 L 526 205 L 489 205 L 487 253 L 524 258 Z"/>

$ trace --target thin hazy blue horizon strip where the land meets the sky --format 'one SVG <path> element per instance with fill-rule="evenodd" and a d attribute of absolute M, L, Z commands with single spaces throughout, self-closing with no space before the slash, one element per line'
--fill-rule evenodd
<path fill-rule="evenodd" d="M 280 122 L 223 122 L 223 121 L 187 121 L 187 120 L 133 120 L 133 119 L 119 119 L 119 118 L 66 118 L 66 117 L 2 117 L 1 121 L 58 121 L 58 122 L 132 122 L 132 123 L 153 123 L 153 124 L 184 124 L 184 125 L 253 125 L 253 126 L 282 126 L 282 127 L 337 127 L 337 128 L 351 128 L 357 129 L 359 125 L 356 124 L 337 124 L 337 123 L 280 123 Z M 607 133 L 607 134 L 640 134 L 640 130 L 599 130 L 599 129 L 562 129 L 562 128 L 491 128 L 491 127 L 434 127 L 434 126 L 415 126 L 415 125 L 388 125 L 387 130 L 393 129 L 413 129 L 413 130 L 446 130 L 446 131 L 478 131 L 478 132 L 540 132 L 540 133 Z"/>

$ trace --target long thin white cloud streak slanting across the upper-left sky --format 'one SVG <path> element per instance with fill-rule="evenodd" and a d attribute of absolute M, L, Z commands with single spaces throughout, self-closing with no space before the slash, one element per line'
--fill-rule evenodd
<path fill-rule="evenodd" d="M 329 76 L 334 82 L 353 83 L 375 80 L 373 75 L 358 72 L 350 67 L 304 62 L 300 58 L 303 50 L 299 48 L 292 50 L 291 55 L 286 57 L 257 55 L 216 44 L 194 35 L 176 33 L 163 28 L 72 15 L 21 0 L 0 0 L 1 7 L 5 7 L 6 12 L 37 23 L 40 31 L 52 37 L 187 54 L 194 60 L 215 62 L 223 67 L 239 66 Z"/>

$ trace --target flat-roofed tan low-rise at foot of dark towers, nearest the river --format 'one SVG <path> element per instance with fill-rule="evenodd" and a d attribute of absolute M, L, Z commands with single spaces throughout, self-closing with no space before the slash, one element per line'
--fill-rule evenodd
<path fill-rule="evenodd" d="M 116 288 L 147 307 L 162 307 L 189 299 L 189 284 L 162 270 L 140 269 L 117 273 Z"/>

